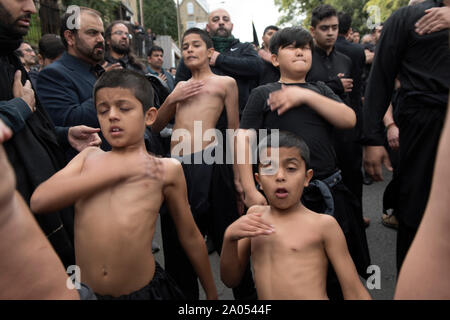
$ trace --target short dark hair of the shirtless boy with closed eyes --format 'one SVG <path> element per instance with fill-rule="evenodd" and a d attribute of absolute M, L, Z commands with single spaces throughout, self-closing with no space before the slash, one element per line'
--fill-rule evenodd
<path fill-rule="evenodd" d="M 136 99 L 141 102 L 144 113 L 154 106 L 152 85 L 146 77 L 133 70 L 115 69 L 103 73 L 94 85 L 94 105 L 97 105 L 97 91 L 103 88 L 131 90 Z"/>

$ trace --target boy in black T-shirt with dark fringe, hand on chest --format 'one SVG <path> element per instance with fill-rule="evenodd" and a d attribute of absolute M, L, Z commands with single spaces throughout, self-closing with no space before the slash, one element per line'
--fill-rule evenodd
<path fill-rule="evenodd" d="M 358 200 L 341 181 L 332 144 L 333 127 L 351 128 L 356 116 L 325 83 L 305 81 L 311 67 L 312 47 L 311 35 L 302 28 L 285 28 L 273 36 L 270 48 L 276 58 L 272 61 L 279 66 L 281 78 L 252 91 L 240 123 L 243 130 L 238 133 L 238 154 L 248 154 L 249 145 L 245 141 L 255 139 L 253 130 L 279 129 L 302 137 L 311 150 L 314 171 L 314 181 L 305 189 L 302 201 L 309 209 L 336 218 L 358 273 L 366 276 L 370 257 L 362 219 L 354 213 Z M 249 162 L 239 164 L 239 174 L 246 205 L 266 204 L 255 186 Z M 331 276 L 330 298 L 340 295 L 336 284 L 337 278 Z"/>

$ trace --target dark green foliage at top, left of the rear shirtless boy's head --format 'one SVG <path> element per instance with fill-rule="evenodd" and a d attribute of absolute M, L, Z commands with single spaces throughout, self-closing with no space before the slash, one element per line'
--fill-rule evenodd
<path fill-rule="evenodd" d="M 173 0 L 144 0 L 145 28 L 178 40 L 177 8 Z"/>

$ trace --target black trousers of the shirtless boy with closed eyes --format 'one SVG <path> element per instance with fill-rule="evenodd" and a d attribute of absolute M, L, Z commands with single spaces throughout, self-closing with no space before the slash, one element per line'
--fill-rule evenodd
<path fill-rule="evenodd" d="M 164 271 L 155 260 L 155 274 L 148 285 L 120 297 L 96 294 L 98 300 L 184 300 L 184 295 L 175 281 Z"/>

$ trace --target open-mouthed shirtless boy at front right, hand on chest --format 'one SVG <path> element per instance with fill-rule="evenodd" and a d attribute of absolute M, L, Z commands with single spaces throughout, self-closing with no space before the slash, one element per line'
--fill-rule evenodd
<path fill-rule="evenodd" d="M 260 150 L 267 148 L 269 157 L 275 149 L 271 137 L 262 141 Z M 255 174 L 269 205 L 251 207 L 225 233 L 222 281 L 229 287 L 239 283 L 251 253 L 259 299 L 325 300 L 330 261 L 345 299 L 370 299 L 336 220 L 299 201 L 313 176 L 308 147 L 295 134 L 281 131 L 277 148 L 279 156 L 260 162 Z"/>

